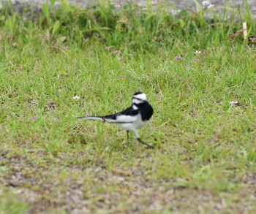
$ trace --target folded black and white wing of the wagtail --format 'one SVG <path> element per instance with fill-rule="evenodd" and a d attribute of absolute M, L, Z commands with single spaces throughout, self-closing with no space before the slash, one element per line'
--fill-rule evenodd
<path fill-rule="evenodd" d="M 103 119 L 108 123 L 132 123 L 137 120 L 136 115 L 138 115 L 138 110 L 129 107 L 114 115 L 106 115 Z"/>

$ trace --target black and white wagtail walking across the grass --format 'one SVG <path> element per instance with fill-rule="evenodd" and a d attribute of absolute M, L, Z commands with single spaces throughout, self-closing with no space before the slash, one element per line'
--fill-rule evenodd
<path fill-rule="evenodd" d="M 153 145 L 149 145 L 146 142 L 140 140 L 137 129 L 145 126 L 148 120 L 153 115 L 153 107 L 148 103 L 145 93 L 136 92 L 132 96 L 132 106 L 122 112 L 118 112 L 113 115 L 105 116 L 85 116 L 79 117 L 83 119 L 106 121 L 108 123 L 116 123 L 122 129 L 127 130 L 127 140 L 129 140 L 129 131 L 132 131 L 137 140 L 143 144 L 146 144 L 148 148 L 154 148 Z"/>

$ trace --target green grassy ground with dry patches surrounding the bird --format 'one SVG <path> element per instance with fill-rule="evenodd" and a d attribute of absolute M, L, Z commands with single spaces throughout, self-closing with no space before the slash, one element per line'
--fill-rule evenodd
<path fill-rule="evenodd" d="M 255 213 L 255 45 L 225 41 L 235 18 L 132 5 L 45 6 L 37 20 L 7 11 L 0 213 Z M 155 150 L 76 119 L 123 110 L 136 91 L 154 107 L 140 137 Z"/>

